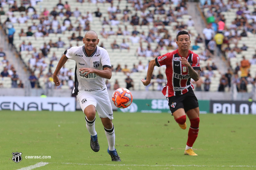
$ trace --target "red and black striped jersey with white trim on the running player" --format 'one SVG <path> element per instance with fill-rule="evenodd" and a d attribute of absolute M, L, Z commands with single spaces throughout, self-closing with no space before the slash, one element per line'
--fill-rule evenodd
<path fill-rule="evenodd" d="M 184 64 L 181 65 L 180 56 L 177 49 L 173 52 L 158 56 L 155 59 L 158 67 L 166 65 L 165 74 L 167 77 L 167 85 L 165 85 L 162 90 L 162 93 L 166 97 L 182 95 L 194 88 L 190 81 L 191 78 L 187 67 Z M 186 59 L 194 70 L 201 70 L 199 56 L 193 51 L 189 50 Z"/>

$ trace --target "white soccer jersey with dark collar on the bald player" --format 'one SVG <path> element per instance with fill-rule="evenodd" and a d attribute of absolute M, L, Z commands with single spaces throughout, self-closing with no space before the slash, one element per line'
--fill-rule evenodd
<path fill-rule="evenodd" d="M 87 76 L 86 73 L 81 73 L 80 68 L 94 68 L 98 70 L 103 70 L 103 68 L 111 68 L 110 58 L 107 50 L 101 47 L 96 47 L 94 53 L 88 56 L 85 52 L 84 46 L 71 47 L 64 52 L 66 57 L 71 60 L 76 61 L 75 69 L 75 87 L 73 89 L 73 94 L 78 94 L 78 92 L 100 92 L 106 89 L 104 78 L 96 75 L 95 73 L 90 73 Z"/>

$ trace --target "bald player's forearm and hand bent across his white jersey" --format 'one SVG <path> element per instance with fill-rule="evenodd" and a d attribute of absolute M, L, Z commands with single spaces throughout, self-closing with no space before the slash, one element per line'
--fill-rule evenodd
<path fill-rule="evenodd" d="M 108 67 L 105 67 L 103 70 L 84 67 L 84 68 L 80 68 L 79 71 L 81 71 L 82 74 L 87 72 L 85 76 L 87 76 L 89 73 L 95 73 L 102 78 L 110 79 L 112 77 L 112 70 L 111 68 L 108 68 Z"/>

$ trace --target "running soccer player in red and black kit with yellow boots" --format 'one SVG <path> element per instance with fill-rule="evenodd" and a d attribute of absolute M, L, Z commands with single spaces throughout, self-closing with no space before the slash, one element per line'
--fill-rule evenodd
<path fill-rule="evenodd" d="M 185 154 L 194 156 L 197 154 L 192 146 L 199 130 L 199 107 L 190 79 L 199 80 L 201 68 L 199 56 L 189 50 L 191 41 L 188 32 L 180 31 L 176 39 L 178 49 L 151 60 L 146 80 L 141 81 L 144 85 L 149 85 L 154 66 L 166 65 L 167 85 L 163 87 L 162 93 L 166 96 L 171 113 L 181 129 L 186 129 L 187 114 L 191 124 Z"/>

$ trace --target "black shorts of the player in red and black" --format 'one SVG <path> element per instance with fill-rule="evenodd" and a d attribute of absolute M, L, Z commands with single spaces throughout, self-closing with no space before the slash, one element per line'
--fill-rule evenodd
<path fill-rule="evenodd" d="M 167 100 L 169 101 L 168 105 L 171 113 L 175 112 L 179 108 L 183 108 L 186 113 L 190 109 L 199 107 L 198 100 L 195 97 L 193 90 L 189 90 L 188 92 L 182 95 L 168 97 Z"/>

